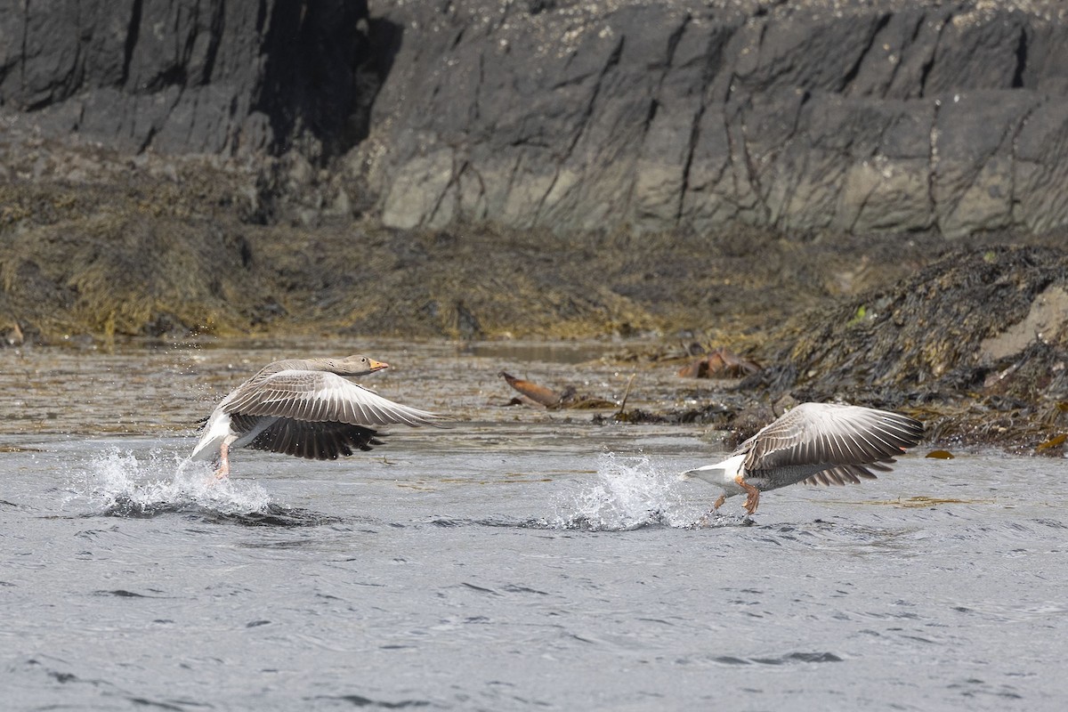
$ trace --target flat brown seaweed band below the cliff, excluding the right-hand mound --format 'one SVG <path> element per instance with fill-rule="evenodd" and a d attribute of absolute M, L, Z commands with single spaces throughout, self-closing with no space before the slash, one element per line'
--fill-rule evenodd
<path fill-rule="evenodd" d="M 252 171 L 113 160 L 122 170 L 98 184 L 0 184 L 0 313 L 30 341 L 694 331 L 737 347 L 948 249 L 937 236 L 820 240 L 741 224 L 707 235 L 559 235 L 491 223 L 400 230 L 329 215 L 264 221 L 278 195 Z"/>

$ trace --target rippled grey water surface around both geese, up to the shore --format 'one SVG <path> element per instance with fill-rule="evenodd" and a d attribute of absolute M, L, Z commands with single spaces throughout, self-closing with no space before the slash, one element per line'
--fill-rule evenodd
<path fill-rule="evenodd" d="M 0 708 L 1059 710 L 1063 459 L 901 458 L 702 526 L 701 427 L 504 407 L 505 368 L 714 398 L 596 345 L 365 351 L 457 416 L 341 462 L 189 424 L 274 358 L 348 345 L 0 351 Z M 17 402 L 16 402 L 17 401 Z M 926 448 L 921 448 L 922 455 Z"/>

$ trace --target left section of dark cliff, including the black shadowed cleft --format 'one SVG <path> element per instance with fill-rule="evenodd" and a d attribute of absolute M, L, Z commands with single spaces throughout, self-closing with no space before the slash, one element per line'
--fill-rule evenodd
<path fill-rule="evenodd" d="M 134 153 L 336 152 L 367 29 L 365 0 L 0 0 L 0 106 Z"/>

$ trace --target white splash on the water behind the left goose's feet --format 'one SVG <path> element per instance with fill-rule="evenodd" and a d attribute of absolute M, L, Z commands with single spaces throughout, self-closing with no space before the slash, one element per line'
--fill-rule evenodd
<path fill-rule="evenodd" d="M 97 513 L 127 517 L 184 509 L 249 515 L 270 508 L 270 496 L 260 485 L 218 480 L 207 463 L 157 450 L 142 458 L 117 447 L 94 457 L 73 473 L 69 501 L 88 502 Z"/>

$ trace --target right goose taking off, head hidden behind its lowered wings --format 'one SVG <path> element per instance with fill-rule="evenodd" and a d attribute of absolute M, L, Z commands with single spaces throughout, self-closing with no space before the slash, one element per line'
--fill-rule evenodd
<path fill-rule="evenodd" d="M 860 406 L 807 402 L 743 442 L 726 460 L 688 470 L 682 479 L 716 485 L 728 496 L 745 494 L 752 515 L 760 492 L 795 482 L 860 484 L 875 479 L 871 471 L 890 472 L 894 457 L 920 443 L 924 425 L 915 418 Z"/>

